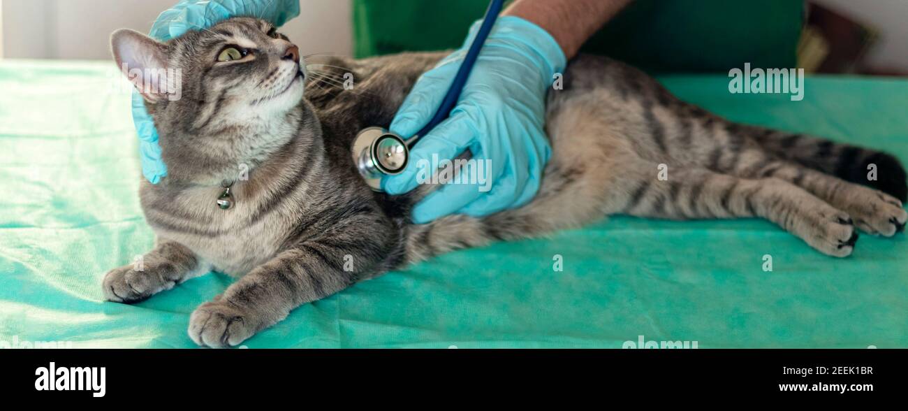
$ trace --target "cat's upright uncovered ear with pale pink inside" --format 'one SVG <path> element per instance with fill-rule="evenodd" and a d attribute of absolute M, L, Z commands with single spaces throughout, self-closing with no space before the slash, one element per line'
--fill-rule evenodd
<path fill-rule="evenodd" d="M 166 45 L 122 28 L 111 35 L 111 49 L 117 66 L 145 100 L 157 103 L 173 93 L 173 83 L 168 83 Z"/>

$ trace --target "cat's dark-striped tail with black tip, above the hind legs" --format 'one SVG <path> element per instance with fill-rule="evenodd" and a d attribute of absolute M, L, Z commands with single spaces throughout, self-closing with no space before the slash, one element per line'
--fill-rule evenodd
<path fill-rule="evenodd" d="M 908 200 L 905 169 L 895 156 L 809 135 L 762 129 L 755 134 L 770 154 L 814 168 L 845 181 L 867 185 Z"/>

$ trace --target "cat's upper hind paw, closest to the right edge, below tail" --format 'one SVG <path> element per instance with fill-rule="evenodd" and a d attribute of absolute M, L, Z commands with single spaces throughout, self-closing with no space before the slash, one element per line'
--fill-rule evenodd
<path fill-rule="evenodd" d="M 848 207 L 848 212 L 854 216 L 854 225 L 864 233 L 885 237 L 904 231 L 908 212 L 903 209 L 902 202 L 881 191 L 862 188 L 861 197 L 855 198 Z"/>

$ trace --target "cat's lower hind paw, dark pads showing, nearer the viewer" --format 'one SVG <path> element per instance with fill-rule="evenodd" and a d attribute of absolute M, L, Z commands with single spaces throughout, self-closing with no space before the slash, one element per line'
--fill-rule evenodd
<path fill-rule="evenodd" d="M 854 221 L 847 213 L 828 207 L 807 220 L 813 228 L 813 235 L 804 238 L 807 244 L 827 256 L 846 257 L 854 252 L 858 234 Z"/>

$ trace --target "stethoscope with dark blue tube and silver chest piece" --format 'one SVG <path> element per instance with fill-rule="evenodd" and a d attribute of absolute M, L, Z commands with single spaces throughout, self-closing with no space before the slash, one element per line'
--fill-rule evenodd
<path fill-rule="evenodd" d="M 479 58 L 479 51 L 485 45 L 492 26 L 498 20 L 498 14 L 504 6 L 504 0 L 492 0 L 489 10 L 479 27 L 479 33 L 473 44 L 469 46 L 467 56 L 464 57 L 463 64 L 454 76 L 454 81 L 442 100 L 439 110 L 429 121 L 429 124 L 422 127 L 419 133 L 409 139 L 404 139 L 400 135 L 391 133 L 382 127 L 369 127 L 360 131 L 353 140 L 353 163 L 360 170 L 360 175 L 366 179 L 374 191 L 384 191 L 381 189 L 381 177 L 383 175 L 399 175 L 407 168 L 410 162 L 410 148 L 419 141 L 419 137 L 429 134 L 436 125 L 449 117 L 451 110 L 457 105 L 460 93 L 463 92 L 464 85 L 467 84 L 469 73 L 476 65 Z"/>

